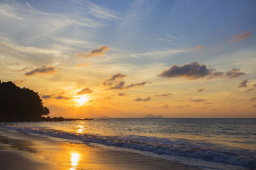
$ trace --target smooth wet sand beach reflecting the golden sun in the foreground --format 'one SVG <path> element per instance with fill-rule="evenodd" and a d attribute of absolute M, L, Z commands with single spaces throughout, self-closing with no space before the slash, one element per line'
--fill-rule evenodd
<path fill-rule="evenodd" d="M 199 169 L 108 146 L 1 128 L 0 164 L 3 169 Z"/>

